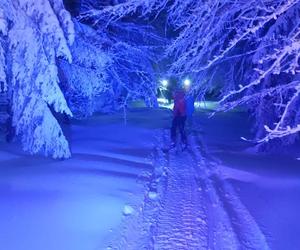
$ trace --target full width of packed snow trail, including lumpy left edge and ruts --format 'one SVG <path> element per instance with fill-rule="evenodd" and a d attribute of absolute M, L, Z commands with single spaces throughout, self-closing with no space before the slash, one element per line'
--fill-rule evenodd
<path fill-rule="evenodd" d="M 269 249 L 202 139 L 192 134 L 188 150 L 163 153 L 169 143 L 169 131 L 159 131 L 148 187 L 158 200 L 146 195 L 139 214 L 127 221 L 121 243 L 108 249 Z"/>

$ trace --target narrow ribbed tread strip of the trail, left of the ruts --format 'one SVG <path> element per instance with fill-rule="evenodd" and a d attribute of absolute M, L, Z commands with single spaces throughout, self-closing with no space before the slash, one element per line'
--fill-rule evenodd
<path fill-rule="evenodd" d="M 162 134 L 163 145 L 168 135 Z M 175 149 L 176 150 L 176 149 Z M 180 154 L 180 155 L 179 155 Z M 154 236 L 156 249 L 207 248 L 204 194 L 190 153 L 170 151 L 165 158 L 164 193 Z"/>

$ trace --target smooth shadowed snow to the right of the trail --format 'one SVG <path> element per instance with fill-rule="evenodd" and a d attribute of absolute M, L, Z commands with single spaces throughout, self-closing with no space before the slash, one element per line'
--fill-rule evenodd
<path fill-rule="evenodd" d="M 299 145 L 283 148 L 282 154 L 253 154 L 239 139 L 247 136 L 247 123 L 243 113 L 203 119 L 207 151 L 220 162 L 220 175 L 236 190 L 269 247 L 300 249 Z"/>

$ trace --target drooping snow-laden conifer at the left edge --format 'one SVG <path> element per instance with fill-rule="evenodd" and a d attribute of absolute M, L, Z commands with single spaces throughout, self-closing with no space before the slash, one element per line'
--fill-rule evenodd
<path fill-rule="evenodd" d="M 72 61 L 69 46 L 74 41 L 73 22 L 62 0 L 2 0 L 0 39 L 0 78 L 11 89 L 12 126 L 23 148 L 69 157 L 68 142 L 54 116 L 72 115 L 56 65 L 57 58 Z M 4 53 L 2 42 L 8 46 Z"/>

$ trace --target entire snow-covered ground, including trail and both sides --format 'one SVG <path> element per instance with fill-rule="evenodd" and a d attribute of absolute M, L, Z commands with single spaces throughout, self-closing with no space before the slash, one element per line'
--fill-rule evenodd
<path fill-rule="evenodd" d="M 170 115 L 74 122 L 67 161 L 0 143 L 0 249 L 300 249 L 296 157 L 247 151 L 242 113 L 198 113 L 167 152 Z"/>

